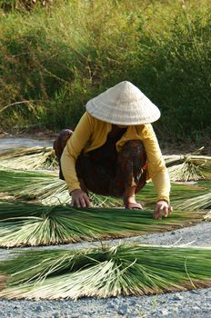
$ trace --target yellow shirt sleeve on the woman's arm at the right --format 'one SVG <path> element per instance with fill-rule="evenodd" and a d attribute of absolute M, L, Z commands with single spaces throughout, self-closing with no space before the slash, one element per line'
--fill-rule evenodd
<path fill-rule="evenodd" d="M 170 179 L 166 169 L 165 160 L 161 154 L 156 134 L 151 124 L 146 124 L 143 134 L 148 173 L 156 188 L 157 201 L 165 200 L 169 204 Z"/>

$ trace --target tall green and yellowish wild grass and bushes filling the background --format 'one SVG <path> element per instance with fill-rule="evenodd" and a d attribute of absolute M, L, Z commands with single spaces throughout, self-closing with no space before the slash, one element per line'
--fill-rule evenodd
<path fill-rule="evenodd" d="M 161 109 L 155 124 L 160 138 L 206 140 L 209 4 L 57 0 L 31 10 L 19 6 L 5 13 L 2 7 L 1 129 L 74 127 L 88 99 L 128 80 Z"/>

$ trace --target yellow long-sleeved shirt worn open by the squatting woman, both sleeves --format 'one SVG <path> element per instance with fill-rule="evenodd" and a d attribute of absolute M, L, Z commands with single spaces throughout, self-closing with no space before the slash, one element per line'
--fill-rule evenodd
<path fill-rule="evenodd" d="M 87 112 L 81 117 L 74 134 L 67 141 L 61 157 L 62 171 L 69 193 L 75 189 L 80 189 L 75 172 L 75 162 L 78 155 L 86 154 L 105 144 L 107 134 L 111 129 L 112 124 L 96 119 Z M 148 163 L 147 179 L 151 178 L 155 185 L 157 201 L 166 200 L 169 203 L 170 181 L 152 125 L 128 126 L 126 133 L 116 143 L 117 152 L 129 140 L 141 140 L 143 142 Z"/>

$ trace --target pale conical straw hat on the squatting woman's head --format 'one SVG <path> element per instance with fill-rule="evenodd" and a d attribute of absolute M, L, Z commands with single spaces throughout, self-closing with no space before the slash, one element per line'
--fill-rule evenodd
<path fill-rule="evenodd" d="M 127 81 L 91 99 L 85 108 L 93 117 L 111 124 L 149 124 L 160 117 L 156 105 Z"/>

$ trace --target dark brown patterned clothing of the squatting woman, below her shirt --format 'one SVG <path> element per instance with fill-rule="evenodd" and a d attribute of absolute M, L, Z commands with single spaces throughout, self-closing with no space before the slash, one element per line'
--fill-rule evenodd
<path fill-rule="evenodd" d="M 70 132 L 63 131 L 55 141 L 54 147 L 59 149 L 55 149 L 59 162 L 68 140 L 66 137 L 72 134 Z M 77 177 L 83 179 L 86 188 L 94 194 L 121 197 L 126 186 L 136 185 L 136 193 L 145 186 L 146 151 L 143 143 L 131 140 L 124 144 L 119 153 L 116 151 L 116 142 L 125 132 L 126 128 L 113 125 L 106 144 L 78 156 L 75 165 Z M 63 177 L 61 167 L 59 176 Z"/>

